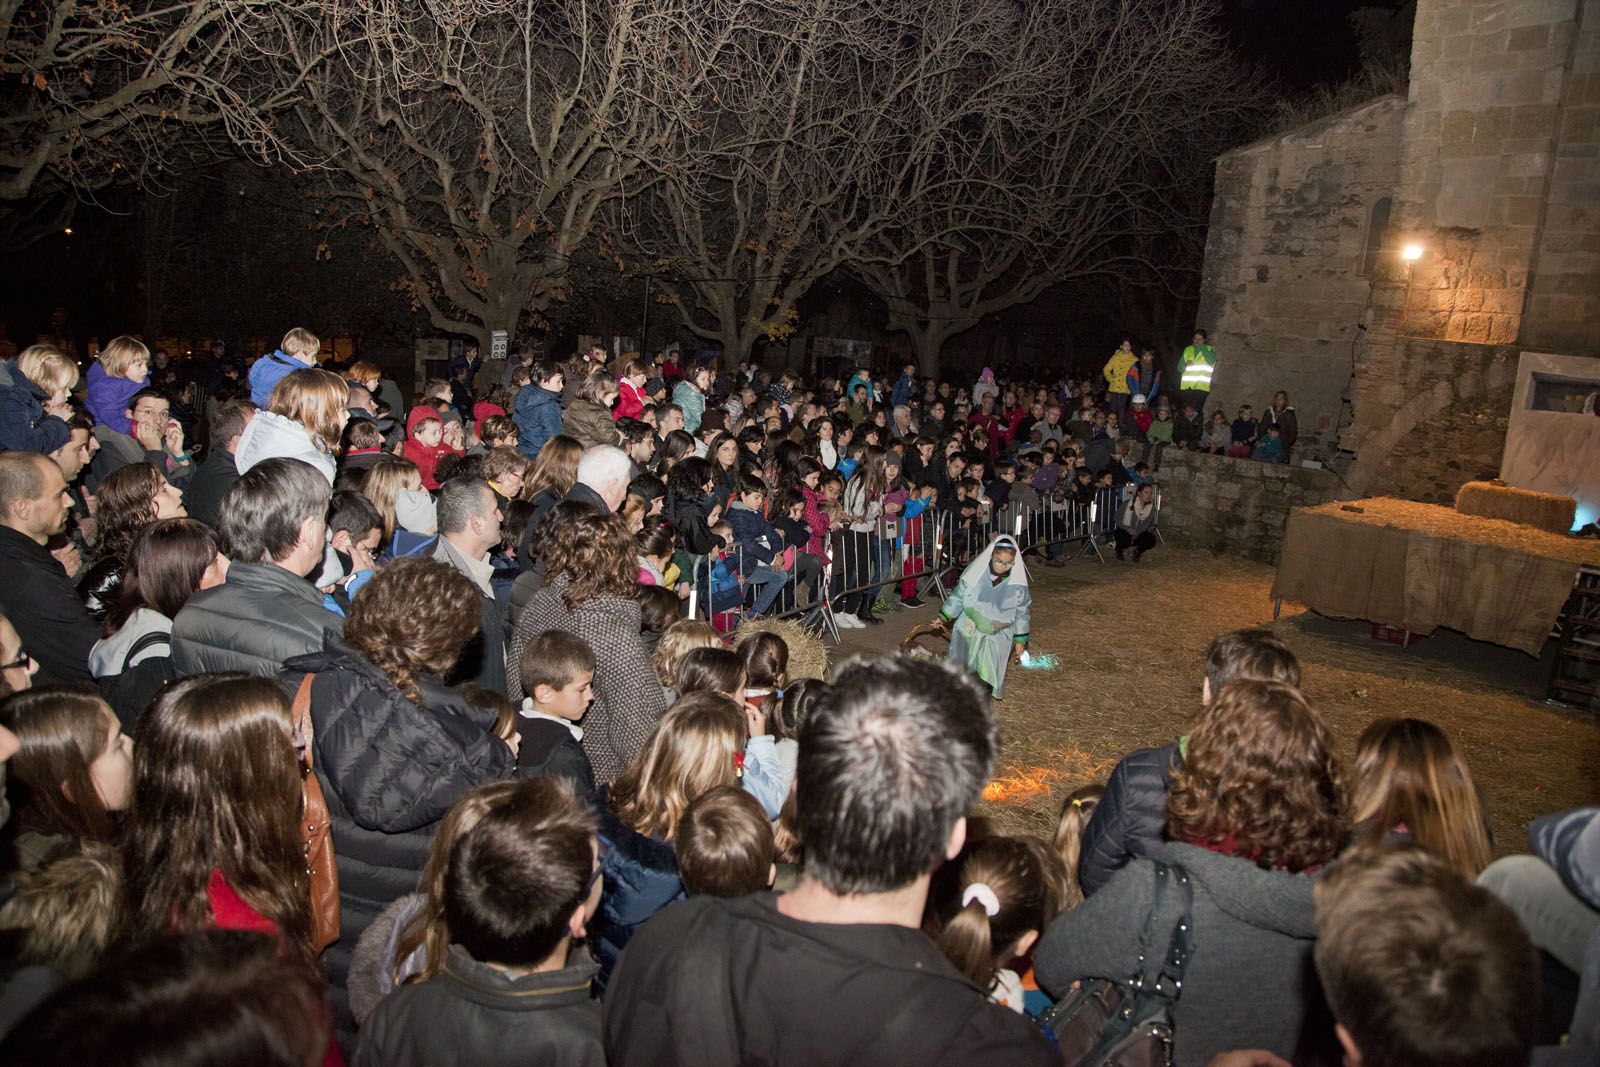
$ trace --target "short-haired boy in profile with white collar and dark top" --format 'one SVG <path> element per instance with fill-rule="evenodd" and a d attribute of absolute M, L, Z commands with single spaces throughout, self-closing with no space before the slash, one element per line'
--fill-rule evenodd
<path fill-rule="evenodd" d="M 594 701 L 595 654 L 568 630 L 544 630 L 522 648 L 522 699 L 517 731 L 517 774 L 565 777 L 587 797 L 595 773 L 584 755 L 578 721 Z"/>

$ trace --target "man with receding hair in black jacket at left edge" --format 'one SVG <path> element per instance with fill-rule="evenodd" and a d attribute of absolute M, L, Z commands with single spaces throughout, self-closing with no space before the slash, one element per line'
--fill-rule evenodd
<path fill-rule="evenodd" d="M 40 683 L 94 681 L 99 627 L 46 547 L 70 509 L 67 480 L 50 458 L 0 453 L 0 613 L 38 661 Z"/>

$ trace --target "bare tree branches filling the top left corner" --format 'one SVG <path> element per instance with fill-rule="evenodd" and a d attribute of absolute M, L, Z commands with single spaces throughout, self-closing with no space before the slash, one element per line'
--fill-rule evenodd
<path fill-rule="evenodd" d="M 59 211 L 64 190 L 149 181 L 229 142 L 278 158 L 272 114 L 293 85 L 262 77 L 253 42 L 291 2 L 0 0 L 0 202 Z"/>

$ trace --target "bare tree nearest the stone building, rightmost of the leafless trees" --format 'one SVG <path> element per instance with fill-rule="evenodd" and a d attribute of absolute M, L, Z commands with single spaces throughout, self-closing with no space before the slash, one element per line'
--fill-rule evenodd
<path fill-rule="evenodd" d="M 965 117 L 939 120 L 949 136 L 910 131 L 922 155 L 907 181 L 875 192 L 894 214 L 853 267 L 928 374 L 984 317 L 1134 269 L 1133 242 L 1173 224 L 1174 170 L 1210 171 L 1192 134 L 1234 77 L 1206 0 L 981 8 L 1008 46 L 925 85 L 923 114 Z M 994 91 L 974 99 L 973 78 Z"/>

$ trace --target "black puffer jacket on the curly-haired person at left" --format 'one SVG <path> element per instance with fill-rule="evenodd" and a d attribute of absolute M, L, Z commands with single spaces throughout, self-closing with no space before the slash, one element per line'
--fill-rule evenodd
<path fill-rule="evenodd" d="M 349 1030 L 344 979 L 362 931 L 416 891 L 434 827 L 450 806 L 477 785 L 510 777 L 515 760 L 490 733 L 494 712 L 429 678 L 418 681 L 418 707 L 333 633 L 323 651 L 283 665 L 291 697 L 306 673 L 317 675 L 312 763 L 339 861 L 339 941 L 323 955 L 323 969 L 334 987 L 334 1021 Z"/>

